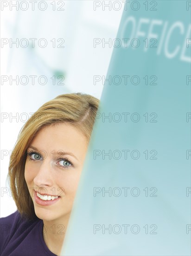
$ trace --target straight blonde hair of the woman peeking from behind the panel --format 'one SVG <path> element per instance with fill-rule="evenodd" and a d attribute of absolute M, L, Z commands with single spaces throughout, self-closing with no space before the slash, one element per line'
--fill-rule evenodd
<path fill-rule="evenodd" d="M 25 123 L 14 146 L 9 162 L 8 179 L 13 199 L 21 215 L 37 218 L 25 182 L 26 150 L 38 131 L 58 122 L 68 122 L 80 129 L 89 141 L 99 100 L 89 94 L 62 94 L 41 106 Z"/>

